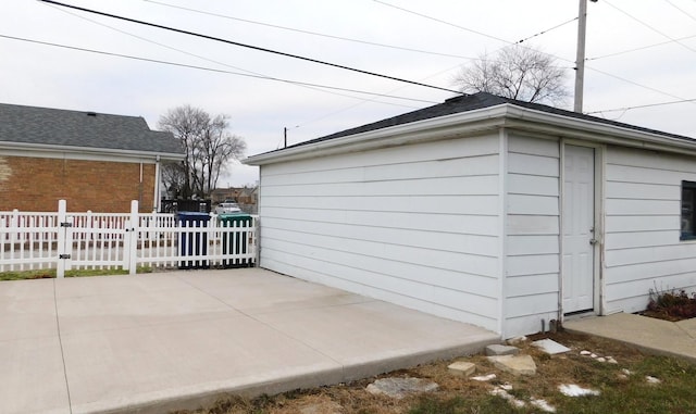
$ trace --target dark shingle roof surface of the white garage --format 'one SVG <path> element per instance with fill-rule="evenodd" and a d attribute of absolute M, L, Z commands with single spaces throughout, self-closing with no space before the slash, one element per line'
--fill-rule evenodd
<path fill-rule="evenodd" d="M 600 117 L 597 117 L 597 116 L 585 115 L 585 114 L 577 113 L 577 112 L 572 112 L 572 111 L 566 111 L 566 110 L 561 110 L 561 109 L 558 109 L 558 108 L 552 108 L 552 106 L 543 105 L 543 104 L 538 104 L 538 103 L 531 103 L 531 102 L 518 101 L 518 100 L 509 99 L 509 98 L 502 98 L 502 97 L 498 97 L 498 96 L 490 95 L 490 93 L 487 93 L 487 92 L 478 92 L 478 93 L 474 93 L 474 95 L 458 96 L 458 97 L 448 99 L 445 102 L 438 103 L 438 104 L 433 105 L 433 106 L 424 108 L 422 110 L 417 110 L 417 111 L 413 111 L 413 112 L 405 113 L 405 114 L 401 114 L 401 115 L 397 115 L 397 116 L 389 117 L 389 118 L 386 118 L 386 120 L 377 121 L 377 122 L 371 123 L 371 124 L 365 124 L 365 125 L 358 126 L 358 127 L 355 127 L 355 128 L 341 130 L 339 133 L 335 133 L 335 134 L 331 134 L 331 135 L 327 135 L 327 136 L 324 136 L 324 137 L 315 138 L 315 139 L 309 140 L 309 141 L 303 141 L 303 142 L 300 142 L 300 143 L 296 143 L 296 145 L 289 146 L 287 148 L 307 146 L 307 145 L 310 145 L 310 143 L 326 141 L 326 140 L 334 139 L 334 138 L 347 137 L 347 136 L 350 136 L 350 135 L 356 135 L 356 134 L 366 133 L 366 131 L 371 131 L 371 130 L 388 128 L 388 127 L 391 127 L 391 126 L 409 124 L 409 123 L 418 122 L 418 121 L 436 118 L 436 117 L 439 117 L 439 116 L 451 115 L 451 114 L 460 113 L 460 112 L 469 112 L 469 111 L 474 111 L 474 110 L 478 110 L 478 109 L 483 109 L 483 108 L 496 106 L 496 105 L 500 105 L 500 104 L 504 104 L 504 103 L 509 103 L 509 104 L 513 104 L 513 105 L 517 105 L 517 106 L 522 106 L 522 108 L 526 108 L 526 109 L 531 109 L 531 110 L 552 113 L 552 114 L 557 114 L 557 115 L 563 115 L 563 116 L 568 116 L 568 117 L 596 122 L 596 123 L 606 124 L 606 125 L 619 126 L 619 127 L 634 129 L 634 130 L 644 131 L 644 133 L 658 134 L 658 135 L 661 135 L 661 136 L 664 136 L 664 137 L 684 139 L 684 140 L 687 140 L 687 141 L 694 141 L 693 138 L 681 136 L 681 135 L 663 133 L 663 131 L 660 131 L 660 130 L 655 130 L 655 129 L 649 129 L 649 128 L 643 128 L 643 127 L 635 126 L 635 125 L 623 124 L 623 123 L 616 122 L 616 121 L 605 120 L 605 118 L 600 118 Z M 283 150 L 278 150 L 278 151 L 283 151 Z"/>

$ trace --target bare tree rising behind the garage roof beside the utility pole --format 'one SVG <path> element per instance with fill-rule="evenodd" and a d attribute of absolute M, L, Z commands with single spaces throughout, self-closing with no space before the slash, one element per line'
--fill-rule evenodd
<path fill-rule="evenodd" d="M 483 54 L 463 66 L 453 83 L 464 93 L 489 92 L 527 102 L 563 105 L 570 96 L 566 73 L 538 50 L 511 46 L 495 58 Z"/>

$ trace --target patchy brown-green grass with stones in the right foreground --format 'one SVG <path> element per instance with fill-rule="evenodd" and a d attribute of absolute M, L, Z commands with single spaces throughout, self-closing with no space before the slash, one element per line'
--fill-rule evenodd
<path fill-rule="evenodd" d="M 530 401 L 543 399 L 557 413 L 696 413 L 696 365 L 666 357 L 644 355 L 622 343 L 583 335 L 558 333 L 547 335 L 569 348 L 571 352 L 548 357 L 536 348 L 523 346 L 522 352 L 532 355 L 537 375 L 514 377 L 493 367 L 484 355 L 465 357 L 476 364 L 476 375 L 495 373 L 498 378 L 478 382 L 471 378 L 452 376 L 447 365 L 452 361 L 425 364 L 390 374 L 310 390 L 295 390 L 277 396 L 263 396 L 243 400 L 231 397 L 214 406 L 179 414 L 290 414 L 290 413 L 362 413 L 362 414 L 531 414 L 543 413 Z M 534 339 L 540 339 L 534 338 Z M 619 363 L 601 363 L 580 351 L 611 355 Z M 458 359 L 462 360 L 462 359 Z M 624 375 L 629 369 L 631 375 Z M 365 387 L 378 377 L 410 376 L 427 378 L 439 385 L 432 393 L 417 394 L 401 400 L 373 396 Z M 660 379 L 649 384 L 646 376 Z M 513 407 L 500 397 L 489 392 L 496 385 L 512 386 L 510 394 L 525 401 L 523 407 Z M 558 387 L 574 384 L 600 391 L 599 396 L 566 397 Z"/>

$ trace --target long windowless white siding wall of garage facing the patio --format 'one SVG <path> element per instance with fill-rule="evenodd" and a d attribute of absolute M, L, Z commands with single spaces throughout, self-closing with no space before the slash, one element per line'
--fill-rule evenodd
<path fill-rule="evenodd" d="M 261 265 L 492 330 L 497 135 L 261 168 Z"/>

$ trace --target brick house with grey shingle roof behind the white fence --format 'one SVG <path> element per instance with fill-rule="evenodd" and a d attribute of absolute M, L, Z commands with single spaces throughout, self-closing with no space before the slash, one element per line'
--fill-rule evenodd
<path fill-rule="evenodd" d="M 0 211 L 151 212 L 160 163 L 183 160 L 142 117 L 0 104 Z"/>

